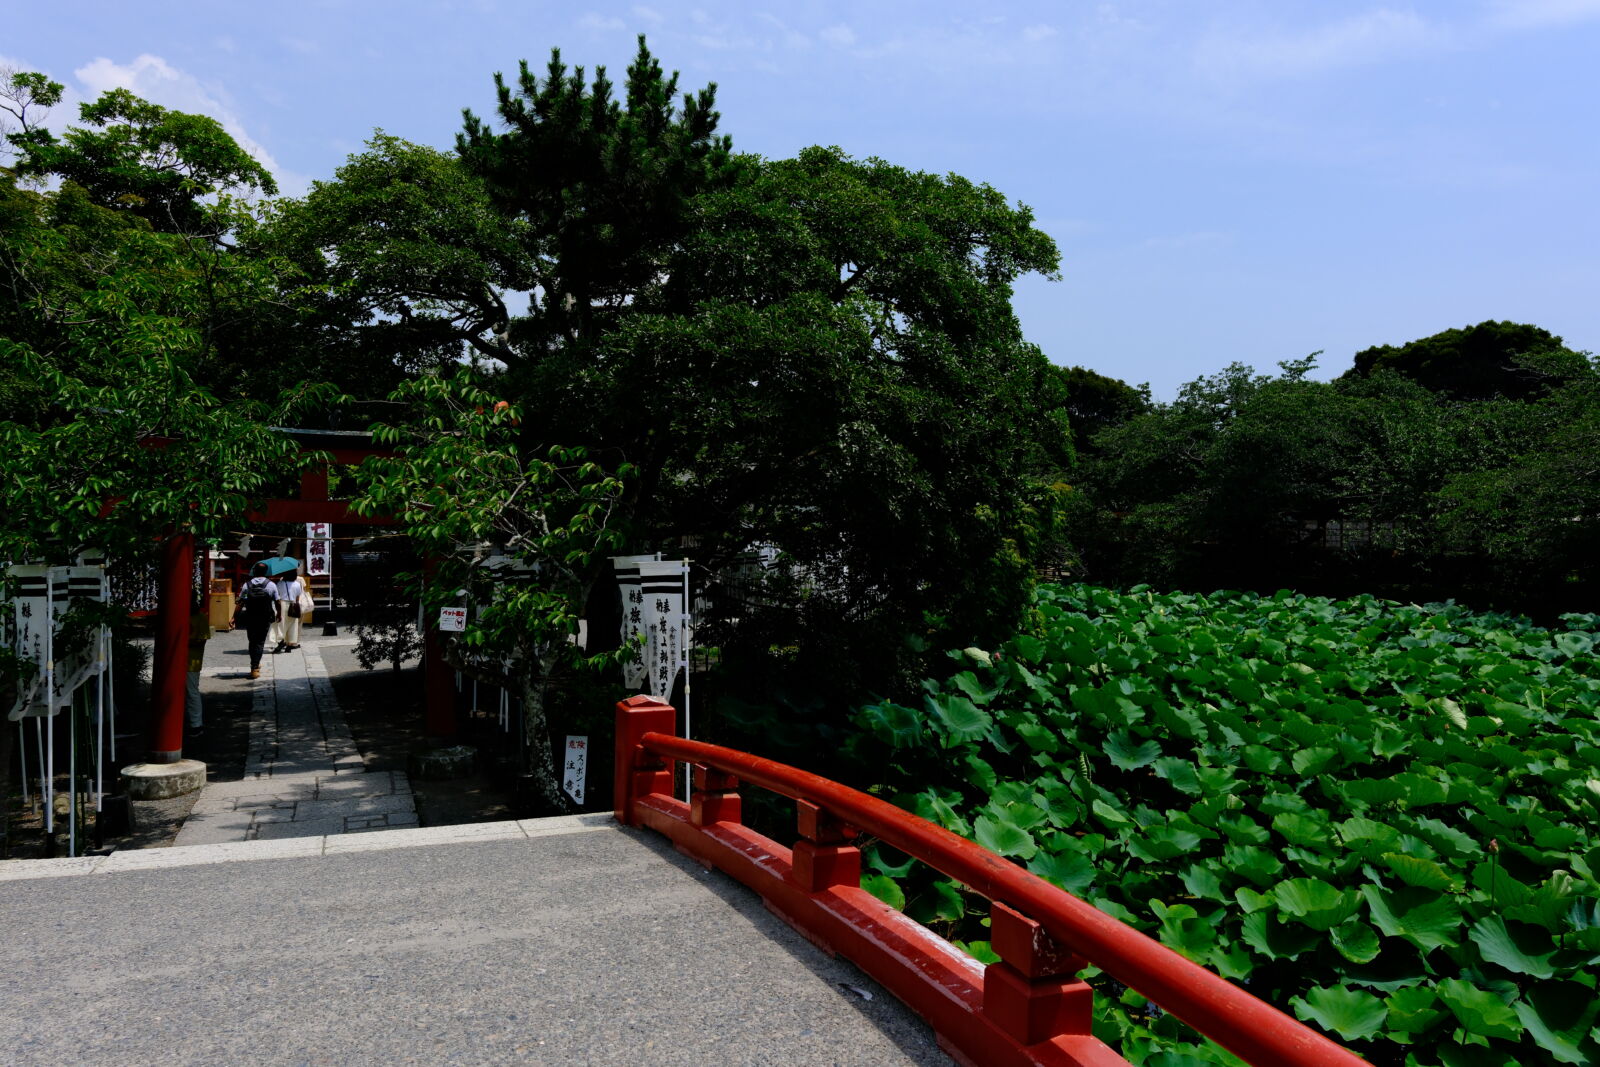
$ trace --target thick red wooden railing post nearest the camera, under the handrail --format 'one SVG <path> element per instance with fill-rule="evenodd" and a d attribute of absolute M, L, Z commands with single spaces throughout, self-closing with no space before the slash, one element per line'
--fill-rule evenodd
<path fill-rule="evenodd" d="M 1090 1032 L 1094 992 L 1080 982 L 1083 960 L 1042 925 L 994 901 L 989 945 L 1000 963 L 984 968 L 984 1016 L 1021 1045 Z"/>

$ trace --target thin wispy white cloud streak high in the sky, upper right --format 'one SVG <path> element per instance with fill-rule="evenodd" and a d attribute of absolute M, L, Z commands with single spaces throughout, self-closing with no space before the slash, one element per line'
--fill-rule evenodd
<path fill-rule="evenodd" d="M 1304 30 L 1213 30 L 1195 50 L 1195 66 L 1221 82 L 1298 77 L 1379 62 L 1445 43 L 1442 27 L 1414 11 L 1376 8 Z"/>

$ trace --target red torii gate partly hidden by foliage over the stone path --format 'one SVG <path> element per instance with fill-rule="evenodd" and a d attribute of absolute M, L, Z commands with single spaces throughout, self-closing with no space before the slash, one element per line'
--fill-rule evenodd
<path fill-rule="evenodd" d="M 355 467 L 368 456 L 390 456 L 389 448 L 373 445 L 371 434 L 355 430 L 283 429 L 301 451 L 331 456 L 330 466 Z M 357 515 L 349 501 L 328 498 L 328 467 L 301 472 L 301 491 L 294 499 L 266 501 L 246 514 L 258 523 L 362 523 L 395 525 L 389 515 Z M 162 544 L 162 577 L 155 613 L 155 657 L 150 665 L 150 763 L 176 763 L 184 742 L 184 683 L 189 659 L 189 605 L 194 603 L 195 537 L 178 533 Z M 450 737 L 456 733 L 454 686 L 440 649 L 435 627 L 424 633 L 422 670 L 427 701 L 426 728 L 430 736 Z"/>

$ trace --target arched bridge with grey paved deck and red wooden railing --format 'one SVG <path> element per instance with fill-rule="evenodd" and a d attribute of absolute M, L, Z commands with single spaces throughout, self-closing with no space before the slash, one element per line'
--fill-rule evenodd
<path fill-rule="evenodd" d="M 618 705 L 613 814 L 0 864 L 0 1061 L 1125 1064 L 1090 1033 L 1091 963 L 1259 1067 L 1362 1062 L 971 841 L 674 720 Z M 795 800 L 792 845 L 741 822 L 746 787 Z M 987 897 L 1002 960 L 862 891 L 858 832 Z"/>

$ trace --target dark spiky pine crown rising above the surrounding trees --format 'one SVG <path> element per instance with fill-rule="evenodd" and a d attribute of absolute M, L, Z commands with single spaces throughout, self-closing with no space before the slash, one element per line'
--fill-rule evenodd
<path fill-rule="evenodd" d="M 531 291 L 498 358 L 578 357 L 659 283 L 694 197 L 738 178 L 741 160 L 717 136 L 717 86 L 682 99 L 677 86 L 640 37 L 622 101 L 605 67 L 586 85 L 552 50 L 542 80 L 526 61 L 515 86 L 494 75 L 504 131 L 464 112 L 456 150 L 514 227 Z"/>

